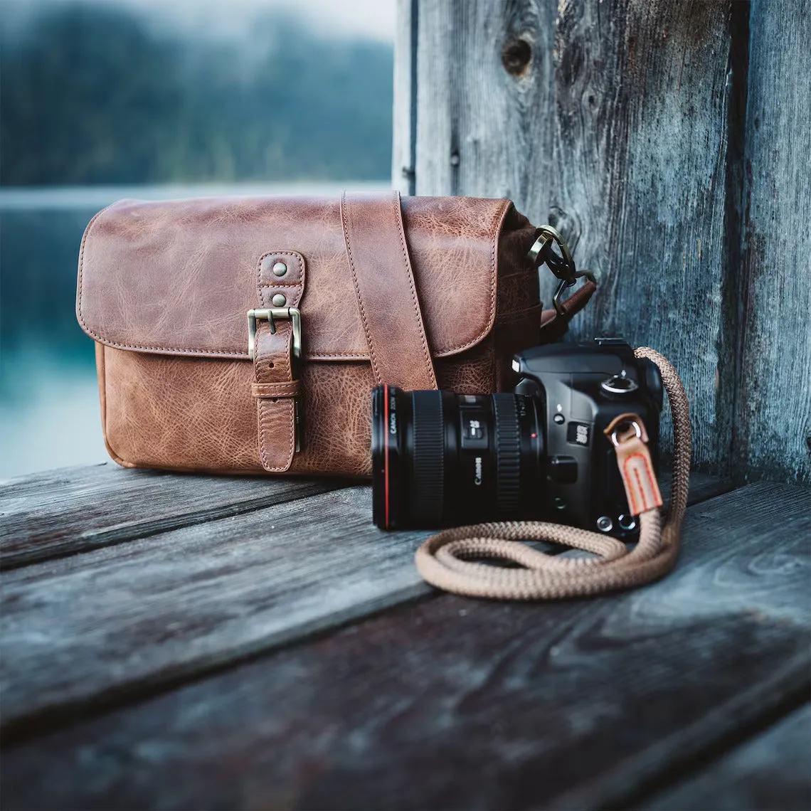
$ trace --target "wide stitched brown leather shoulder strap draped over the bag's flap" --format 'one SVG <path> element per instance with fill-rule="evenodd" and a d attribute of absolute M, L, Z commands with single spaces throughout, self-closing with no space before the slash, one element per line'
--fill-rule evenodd
<path fill-rule="evenodd" d="M 341 197 L 341 225 L 377 384 L 436 389 L 400 194 Z"/>

